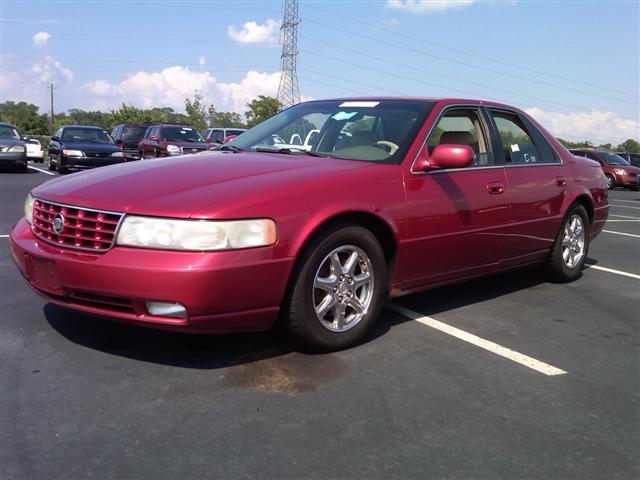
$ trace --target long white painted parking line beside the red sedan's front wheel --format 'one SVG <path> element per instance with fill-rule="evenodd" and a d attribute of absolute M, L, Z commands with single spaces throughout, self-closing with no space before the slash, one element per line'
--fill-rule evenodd
<path fill-rule="evenodd" d="M 392 312 L 398 313 L 403 317 L 410 318 L 411 320 L 415 320 L 416 322 L 419 322 L 423 325 L 435 328 L 436 330 L 446 333 L 447 335 L 451 335 L 460 340 L 487 350 L 491 353 L 495 353 L 496 355 L 500 355 L 501 357 L 519 363 L 520 365 L 529 367 L 536 372 L 540 372 L 549 376 L 564 375 L 567 373 L 564 370 L 554 367 L 553 365 L 541 362 L 540 360 L 536 360 L 535 358 L 531 358 L 527 355 L 516 352 L 515 350 L 511 350 L 510 348 L 503 347 L 502 345 L 498 345 L 497 343 L 493 343 L 489 340 L 485 340 L 484 338 L 480 338 L 469 332 L 460 330 L 459 328 L 452 327 L 451 325 L 442 323 L 434 318 L 427 317 L 426 315 L 414 312 L 413 310 L 409 310 L 408 308 L 401 307 L 400 305 L 388 303 L 385 308 L 391 310 Z"/>

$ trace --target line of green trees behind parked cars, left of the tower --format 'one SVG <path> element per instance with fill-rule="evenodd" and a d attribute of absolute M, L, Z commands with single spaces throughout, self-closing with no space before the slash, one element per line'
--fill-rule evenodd
<path fill-rule="evenodd" d="M 247 103 L 247 110 L 242 116 L 236 112 L 216 110 L 197 92 L 193 98 L 184 99 L 184 107 L 185 113 L 176 112 L 171 107 L 138 108 L 125 103 L 109 112 L 71 108 L 54 114 L 53 131 L 62 125 L 94 125 L 111 131 L 122 123 L 177 123 L 191 125 L 200 131 L 209 126 L 248 128 L 275 115 L 281 105 L 273 97 L 259 95 Z M 3 102 L 0 103 L 0 121 L 15 125 L 22 135 L 49 135 L 49 115 L 38 111 L 38 105 L 32 103 Z"/>

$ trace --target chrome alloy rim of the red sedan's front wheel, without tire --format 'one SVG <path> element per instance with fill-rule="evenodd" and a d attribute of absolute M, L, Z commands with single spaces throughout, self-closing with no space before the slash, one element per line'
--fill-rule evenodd
<path fill-rule="evenodd" d="M 373 299 L 373 265 L 354 245 L 329 253 L 313 280 L 313 307 L 323 327 L 341 333 L 355 327 Z"/>

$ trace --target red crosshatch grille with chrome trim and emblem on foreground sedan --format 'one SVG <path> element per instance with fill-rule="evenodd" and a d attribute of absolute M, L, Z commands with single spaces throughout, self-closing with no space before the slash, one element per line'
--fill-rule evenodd
<path fill-rule="evenodd" d="M 58 232 L 54 219 L 61 215 L 64 225 Z M 115 243 L 123 214 L 104 212 L 36 199 L 33 202 L 31 230 L 42 240 L 60 247 L 104 252 Z"/>

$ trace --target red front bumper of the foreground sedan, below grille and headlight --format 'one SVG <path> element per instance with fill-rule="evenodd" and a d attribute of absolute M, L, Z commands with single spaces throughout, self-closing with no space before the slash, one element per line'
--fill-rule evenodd
<path fill-rule="evenodd" d="M 272 248 L 199 253 L 116 246 L 87 253 L 36 238 L 24 219 L 12 228 L 10 244 L 26 281 L 54 303 L 188 332 L 269 329 L 295 260 L 274 259 Z M 145 301 L 181 303 L 187 316 L 151 315 Z"/>

